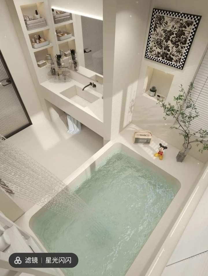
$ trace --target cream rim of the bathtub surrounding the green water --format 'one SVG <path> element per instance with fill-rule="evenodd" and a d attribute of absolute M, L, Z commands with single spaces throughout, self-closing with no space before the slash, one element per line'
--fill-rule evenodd
<path fill-rule="evenodd" d="M 101 167 L 107 158 L 114 155 L 115 152 L 120 151 L 142 161 L 142 163 L 150 167 L 151 170 L 159 172 L 161 176 L 174 182 L 178 187 L 177 194 L 150 234 L 138 256 L 133 261 L 126 276 L 146 275 L 148 268 L 161 249 L 162 244 L 166 240 L 171 228 L 174 226 L 183 206 L 187 202 L 190 193 L 193 191 L 196 176 L 203 168 L 203 164 L 198 163 L 198 161 L 192 157 L 187 158 L 188 166 L 187 164 L 184 166 L 184 164 L 175 162 L 172 155 L 176 156 L 177 149 L 172 146 L 168 146 L 169 154 L 164 153 L 164 159 L 162 161 L 155 158 L 154 153 L 157 151 L 159 143 L 162 142 L 164 144 L 164 141 L 153 137 L 153 141 L 150 145 L 134 145 L 133 132 L 136 129 L 138 129 L 138 127 L 130 125 L 121 132 L 116 139 L 108 142 L 101 150 L 64 180 L 66 185 L 70 185 L 72 189 L 76 189 L 80 183 L 91 176 L 92 171 Z M 21 226 L 24 224 L 24 228 L 26 227 L 28 232 L 33 233 L 29 228 L 29 221 L 34 221 L 38 212 L 41 211 L 41 206 L 35 205 L 23 215 L 19 224 Z"/>

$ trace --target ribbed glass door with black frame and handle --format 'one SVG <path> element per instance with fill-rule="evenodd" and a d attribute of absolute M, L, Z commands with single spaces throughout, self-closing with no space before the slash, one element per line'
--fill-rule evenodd
<path fill-rule="evenodd" d="M 27 110 L 0 51 L 0 134 L 9 138 L 31 124 Z"/>

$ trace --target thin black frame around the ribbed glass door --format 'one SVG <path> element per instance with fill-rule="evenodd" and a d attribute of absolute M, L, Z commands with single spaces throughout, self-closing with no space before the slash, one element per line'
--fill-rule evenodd
<path fill-rule="evenodd" d="M 27 119 L 28 119 L 28 121 L 29 121 L 29 123 L 28 123 L 27 125 L 25 125 L 25 126 L 23 126 L 23 127 L 20 127 L 19 129 L 15 130 L 15 131 L 13 131 L 12 133 L 10 133 L 9 135 L 6 135 L 6 136 L 5 136 L 5 138 L 9 138 L 9 137 L 13 136 L 14 134 L 20 132 L 21 130 L 25 129 L 26 127 L 29 127 L 30 125 L 32 125 L 32 121 L 31 121 L 31 119 L 30 119 L 30 117 L 29 117 L 29 114 L 28 114 L 28 112 L 27 112 L 27 109 L 25 108 L 25 105 L 24 105 L 24 103 L 23 103 L 23 100 L 22 100 L 22 98 L 21 98 L 21 96 L 20 96 L 20 93 L 19 93 L 19 91 L 18 91 L 18 89 L 17 89 L 17 87 L 16 87 L 16 85 L 15 85 L 15 82 L 14 82 L 14 80 L 13 80 L 13 78 L 12 78 L 12 75 L 11 75 L 11 73 L 10 73 L 10 70 L 9 70 L 7 64 L 6 64 L 6 61 L 5 61 L 4 57 L 3 57 L 3 54 L 2 54 L 2 52 L 1 52 L 1 50 L 0 50 L 0 57 L 1 57 L 1 59 L 2 59 L 2 62 L 3 62 L 3 64 L 4 64 L 4 66 L 5 66 L 6 71 L 8 72 L 8 75 L 9 75 L 9 77 L 10 77 L 11 83 L 12 83 L 14 89 L 16 90 L 16 93 L 17 93 L 17 96 L 18 96 L 19 101 L 20 101 L 20 103 L 21 103 L 21 106 L 22 106 L 23 110 L 25 111 L 25 115 L 26 115 L 26 117 L 27 117 Z"/>

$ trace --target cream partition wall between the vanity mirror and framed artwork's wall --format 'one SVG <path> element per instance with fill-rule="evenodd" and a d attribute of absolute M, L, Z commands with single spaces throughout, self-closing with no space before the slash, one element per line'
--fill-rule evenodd
<path fill-rule="evenodd" d="M 106 140 L 112 139 L 131 122 L 150 2 L 150 0 L 103 2 L 103 95 Z M 115 37 L 112 39 L 113 24 L 115 24 Z"/>

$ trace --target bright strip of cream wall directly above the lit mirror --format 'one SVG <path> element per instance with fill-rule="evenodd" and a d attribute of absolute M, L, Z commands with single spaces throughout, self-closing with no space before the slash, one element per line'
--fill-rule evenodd
<path fill-rule="evenodd" d="M 103 18 L 103 0 L 49 0 L 51 6 L 70 10 L 74 14 Z"/>

